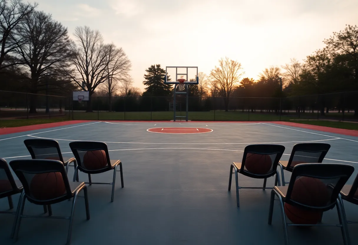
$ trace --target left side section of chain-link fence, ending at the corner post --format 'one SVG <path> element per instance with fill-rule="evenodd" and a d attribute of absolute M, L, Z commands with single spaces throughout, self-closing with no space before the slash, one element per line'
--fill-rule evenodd
<path fill-rule="evenodd" d="M 0 91 L 0 119 L 71 118 L 71 98 Z"/>

